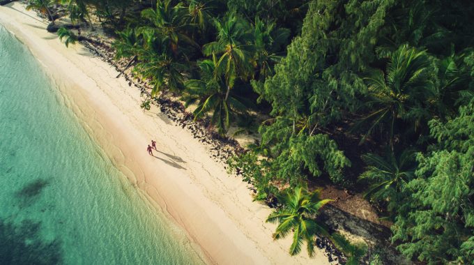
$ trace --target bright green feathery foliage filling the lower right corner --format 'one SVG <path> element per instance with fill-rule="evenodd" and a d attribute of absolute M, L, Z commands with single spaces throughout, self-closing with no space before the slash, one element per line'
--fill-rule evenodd
<path fill-rule="evenodd" d="M 459 116 L 429 122 L 436 143 L 418 153 L 411 197 L 398 209 L 394 241 L 429 264 L 470 264 L 474 255 L 474 100 Z"/>

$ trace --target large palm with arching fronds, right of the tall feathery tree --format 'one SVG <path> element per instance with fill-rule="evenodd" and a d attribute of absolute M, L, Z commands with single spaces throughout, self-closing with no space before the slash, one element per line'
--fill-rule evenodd
<path fill-rule="evenodd" d="M 429 59 L 425 51 L 418 52 L 406 45 L 392 54 L 386 73 L 376 70 L 365 78 L 369 91 L 371 109 L 360 124 L 369 124 L 361 142 L 365 141 L 376 126 L 388 126 L 388 138 L 393 149 L 393 135 L 396 121 L 412 121 L 415 129 L 427 115 L 423 105 L 432 94 L 429 79 Z"/>

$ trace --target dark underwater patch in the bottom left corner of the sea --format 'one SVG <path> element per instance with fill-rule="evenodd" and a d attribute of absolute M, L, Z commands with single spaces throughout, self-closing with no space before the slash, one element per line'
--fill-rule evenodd
<path fill-rule="evenodd" d="M 0 219 L 0 264 L 63 264 L 59 239 L 44 241 L 40 222 Z"/>

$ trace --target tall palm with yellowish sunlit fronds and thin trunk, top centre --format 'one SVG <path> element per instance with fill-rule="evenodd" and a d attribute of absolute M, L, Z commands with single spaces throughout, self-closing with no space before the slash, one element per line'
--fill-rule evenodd
<path fill-rule="evenodd" d="M 202 50 L 206 56 L 220 54 L 215 71 L 216 75 L 224 71 L 227 84 L 225 101 L 227 101 L 236 78 L 246 77 L 250 73 L 252 34 L 246 22 L 234 14 L 227 15 L 223 21 L 214 20 L 214 24 L 217 29 L 217 41 L 204 45 Z"/>

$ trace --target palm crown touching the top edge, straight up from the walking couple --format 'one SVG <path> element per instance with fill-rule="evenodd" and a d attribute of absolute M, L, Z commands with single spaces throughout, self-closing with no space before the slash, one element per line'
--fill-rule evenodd
<path fill-rule="evenodd" d="M 148 32 L 148 35 L 160 36 L 165 40 L 175 56 L 178 55 L 178 48 L 181 42 L 199 47 L 194 40 L 189 38 L 185 32 L 192 27 L 186 22 L 183 3 L 171 6 L 171 0 L 162 0 L 156 3 L 156 8 L 148 8 L 142 11 L 142 17 L 152 23 L 152 26 L 142 27 L 141 31 Z"/>

